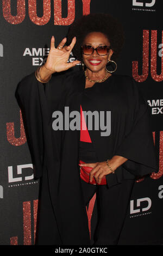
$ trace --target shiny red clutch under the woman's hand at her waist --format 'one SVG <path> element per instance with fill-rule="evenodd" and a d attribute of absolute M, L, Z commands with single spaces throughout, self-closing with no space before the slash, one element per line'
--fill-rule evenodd
<path fill-rule="evenodd" d="M 82 160 L 79 160 L 79 163 L 85 163 L 85 162 L 83 162 Z M 80 167 L 80 178 L 89 184 L 96 185 L 97 183 L 94 177 L 92 179 L 92 182 L 89 181 L 90 172 L 93 168 L 87 167 L 87 166 L 79 166 L 79 167 Z M 97 185 L 106 185 L 106 176 L 104 176 L 101 180 L 101 183 Z"/>

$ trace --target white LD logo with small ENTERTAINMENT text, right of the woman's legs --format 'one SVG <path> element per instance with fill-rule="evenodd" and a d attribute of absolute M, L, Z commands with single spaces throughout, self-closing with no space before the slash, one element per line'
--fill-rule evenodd
<path fill-rule="evenodd" d="M 152 201 L 149 197 L 137 199 L 136 209 L 134 208 L 134 205 L 135 205 L 134 201 L 135 200 L 130 201 L 130 215 L 131 214 L 136 214 L 136 215 L 132 215 L 130 216 L 130 218 L 151 214 L 151 212 L 146 212 L 151 208 L 151 205 L 152 205 Z M 140 214 L 138 214 L 139 212 Z M 145 213 L 141 213 L 141 212 L 145 212 Z"/>

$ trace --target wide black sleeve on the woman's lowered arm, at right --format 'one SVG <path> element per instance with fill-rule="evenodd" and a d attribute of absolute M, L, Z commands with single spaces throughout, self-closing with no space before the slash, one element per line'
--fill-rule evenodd
<path fill-rule="evenodd" d="M 132 99 L 130 111 L 134 119 L 131 121 L 130 130 L 126 131 L 115 155 L 126 157 L 128 160 L 122 166 L 135 176 L 143 176 L 158 172 L 154 140 L 152 134 L 151 117 L 148 103 L 135 81 L 130 78 Z"/>

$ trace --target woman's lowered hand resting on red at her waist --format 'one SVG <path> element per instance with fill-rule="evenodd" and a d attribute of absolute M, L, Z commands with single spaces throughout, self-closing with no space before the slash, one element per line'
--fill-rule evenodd
<path fill-rule="evenodd" d="M 108 161 L 109 163 L 109 161 Z M 109 167 L 107 166 L 106 162 L 96 162 L 96 163 L 82 163 L 80 166 L 87 166 L 87 167 L 92 167 L 93 169 L 90 172 L 90 182 L 93 179 L 93 176 L 95 177 L 95 180 L 98 184 L 101 183 L 102 178 L 107 175 L 112 173 Z M 110 165 L 112 168 L 112 166 Z M 115 170 L 115 169 L 113 169 Z"/>

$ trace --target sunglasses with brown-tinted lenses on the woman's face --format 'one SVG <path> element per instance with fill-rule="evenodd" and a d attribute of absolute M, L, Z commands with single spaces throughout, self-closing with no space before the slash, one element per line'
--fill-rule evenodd
<path fill-rule="evenodd" d="M 85 55 L 91 55 L 94 51 L 96 51 L 98 55 L 107 55 L 110 49 L 110 46 L 107 45 L 98 46 L 97 48 L 93 48 L 91 45 L 82 45 L 81 47 Z"/>

